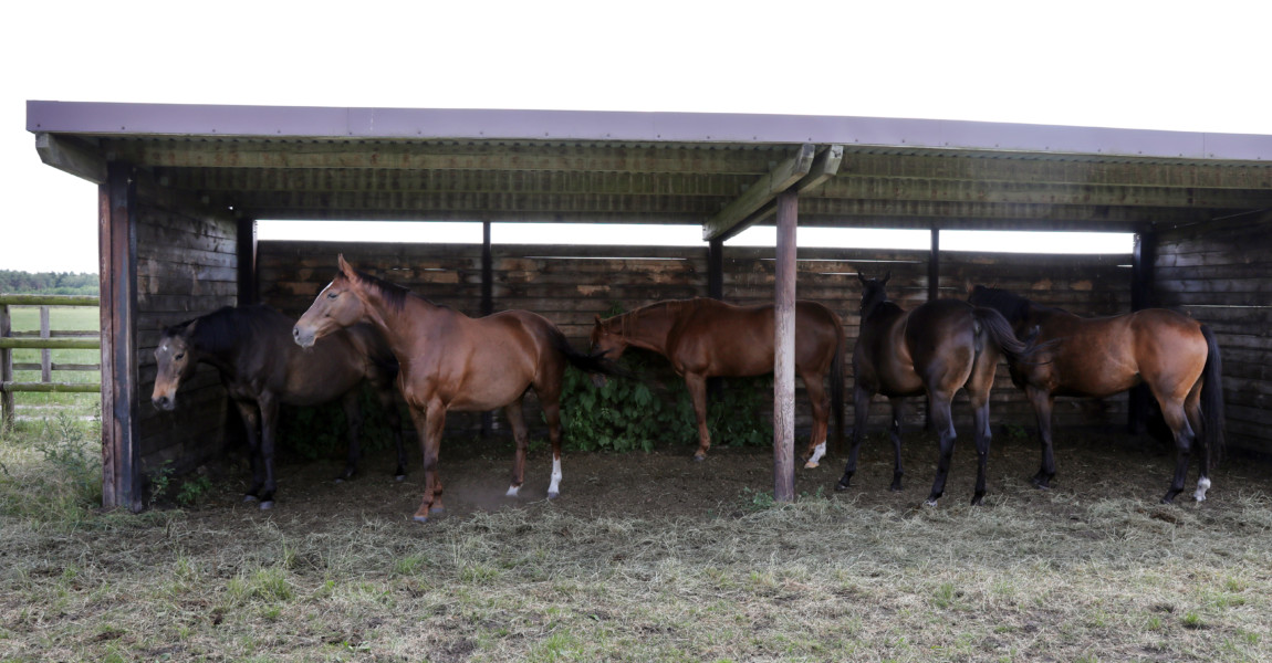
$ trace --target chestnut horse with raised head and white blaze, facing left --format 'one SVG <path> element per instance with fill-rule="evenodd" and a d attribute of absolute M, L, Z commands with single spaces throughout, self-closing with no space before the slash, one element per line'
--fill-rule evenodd
<path fill-rule="evenodd" d="M 427 522 L 430 513 L 445 512 L 438 479 L 438 450 L 449 410 L 504 408 L 516 441 L 508 495 L 516 495 L 525 479 L 529 446 L 522 396 L 532 387 L 543 406 L 552 442 L 548 497 L 557 497 L 565 365 L 605 372 L 608 362 L 570 348 L 561 330 L 538 314 L 502 311 L 468 318 L 401 286 L 357 272 L 343 255 L 338 263 L 341 273 L 318 293 L 293 335 L 298 344 L 310 347 L 317 339 L 363 320 L 388 340 L 402 365 L 402 396 L 411 408 L 424 450 L 424 500 L 415 519 Z"/>

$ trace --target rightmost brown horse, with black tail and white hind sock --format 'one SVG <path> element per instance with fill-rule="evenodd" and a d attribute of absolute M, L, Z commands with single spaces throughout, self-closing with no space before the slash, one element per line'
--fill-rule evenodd
<path fill-rule="evenodd" d="M 1211 452 L 1224 445 L 1221 361 L 1208 326 L 1165 309 L 1079 318 L 985 286 L 972 291 L 971 301 L 1001 311 L 1018 333 L 1037 326 L 1039 339 L 1052 342 L 1038 363 L 1011 362 L 1011 381 L 1024 389 L 1038 417 L 1042 467 L 1033 478 L 1038 488 L 1047 488 L 1056 475 L 1051 446 L 1056 396 L 1103 398 L 1147 384 L 1175 439 L 1175 475 L 1161 502 L 1169 504 L 1184 489 L 1193 442 L 1201 446 L 1193 497 L 1206 499 Z"/>

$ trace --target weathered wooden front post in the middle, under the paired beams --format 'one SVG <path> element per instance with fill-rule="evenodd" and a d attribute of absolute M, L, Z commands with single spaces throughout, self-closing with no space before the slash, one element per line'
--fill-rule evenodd
<path fill-rule="evenodd" d="M 773 287 L 773 499 L 795 502 L 795 225 L 799 196 L 777 196 Z"/>

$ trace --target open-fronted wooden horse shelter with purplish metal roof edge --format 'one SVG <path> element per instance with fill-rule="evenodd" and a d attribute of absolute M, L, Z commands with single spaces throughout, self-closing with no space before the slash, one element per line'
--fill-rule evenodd
<path fill-rule="evenodd" d="M 295 316 L 335 273 L 340 250 L 473 315 L 538 310 L 576 343 L 614 298 L 775 301 L 777 499 L 794 497 L 796 282 L 800 297 L 845 319 L 851 348 L 856 273 L 865 269 L 897 272 L 903 305 L 963 298 L 972 282 L 997 282 L 1084 314 L 1186 311 L 1220 338 L 1229 445 L 1272 453 L 1272 136 L 61 102 L 28 102 L 27 130 L 45 164 L 99 185 L 106 506 L 140 509 L 148 469 L 192 469 L 221 448 L 230 425 L 211 370 L 186 387 L 179 412 L 146 404 L 162 329 L 256 301 Z M 256 240 L 257 220 L 477 221 L 486 241 L 266 245 Z M 656 269 L 613 248 L 491 245 L 491 222 L 527 221 L 692 224 L 702 226 L 703 245 L 645 250 L 661 260 Z M 777 226 L 775 251 L 725 246 L 756 224 Z M 798 249 L 796 229 L 810 226 L 918 229 L 931 246 Z M 1121 231 L 1136 234 L 1136 245 L 1124 264 L 988 259 L 941 251 L 949 230 Z M 1136 399 L 1124 409 L 1142 418 Z"/>

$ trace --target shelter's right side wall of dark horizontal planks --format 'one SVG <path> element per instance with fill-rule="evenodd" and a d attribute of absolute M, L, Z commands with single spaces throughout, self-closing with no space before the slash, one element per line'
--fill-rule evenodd
<path fill-rule="evenodd" d="M 1272 213 L 1161 231 L 1154 286 L 1219 338 L 1229 445 L 1272 453 Z"/>

